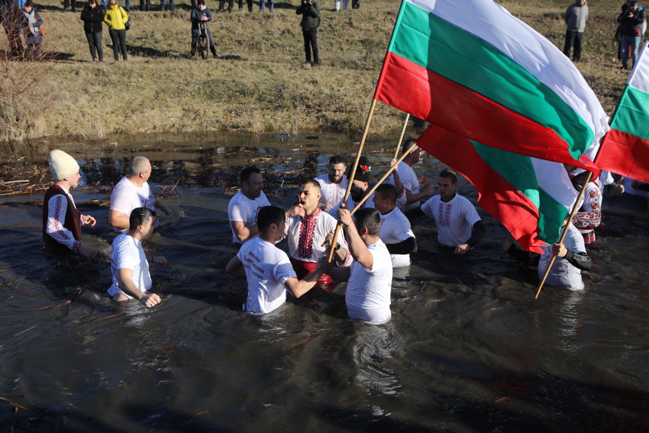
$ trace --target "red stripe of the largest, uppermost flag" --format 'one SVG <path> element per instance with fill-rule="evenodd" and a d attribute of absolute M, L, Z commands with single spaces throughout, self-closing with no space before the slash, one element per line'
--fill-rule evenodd
<path fill-rule="evenodd" d="M 388 52 L 374 99 L 493 148 L 593 170 L 552 129 Z"/>

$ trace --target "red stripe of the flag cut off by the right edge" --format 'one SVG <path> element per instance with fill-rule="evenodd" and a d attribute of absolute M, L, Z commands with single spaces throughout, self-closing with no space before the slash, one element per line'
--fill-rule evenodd
<path fill-rule="evenodd" d="M 602 170 L 649 183 L 649 142 L 611 129 L 602 141 L 595 164 Z"/>

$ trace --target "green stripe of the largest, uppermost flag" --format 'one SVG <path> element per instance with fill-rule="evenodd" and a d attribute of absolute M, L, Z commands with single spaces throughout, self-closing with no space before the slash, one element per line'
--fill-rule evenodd
<path fill-rule="evenodd" d="M 532 73 L 481 38 L 411 3 L 402 3 L 388 51 L 553 129 L 575 158 L 594 140 L 589 125 Z"/>

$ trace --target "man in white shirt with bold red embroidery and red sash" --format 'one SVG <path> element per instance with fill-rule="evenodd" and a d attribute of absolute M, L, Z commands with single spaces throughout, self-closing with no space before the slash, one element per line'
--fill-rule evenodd
<path fill-rule="evenodd" d="M 336 230 L 336 218 L 323 212 L 318 206 L 320 200 L 320 185 L 315 180 L 309 180 L 300 187 L 298 196 L 299 206 L 304 209 L 304 215 L 286 220 L 284 234 L 288 238 L 288 250 L 293 269 L 297 278 L 302 278 L 315 270 L 320 257 L 328 256 L 333 236 L 327 238 L 330 231 Z M 339 231 L 334 257 L 339 266 L 349 266 L 352 256 L 347 251 L 347 241 L 343 232 Z M 324 283 L 329 283 L 326 278 Z"/>

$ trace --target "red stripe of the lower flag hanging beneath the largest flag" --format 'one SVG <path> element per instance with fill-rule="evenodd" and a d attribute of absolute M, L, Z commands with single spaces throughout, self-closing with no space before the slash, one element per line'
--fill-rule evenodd
<path fill-rule="evenodd" d="M 543 254 L 539 247 L 547 243 L 539 239 L 539 209 L 487 164 L 467 138 L 430 125 L 417 144 L 469 179 L 478 190 L 480 207 L 502 222 L 520 246 Z"/>

